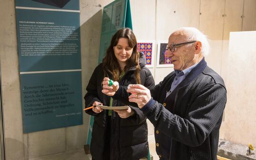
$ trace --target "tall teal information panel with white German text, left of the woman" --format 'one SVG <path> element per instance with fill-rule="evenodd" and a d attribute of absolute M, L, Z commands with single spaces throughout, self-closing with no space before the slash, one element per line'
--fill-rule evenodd
<path fill-rule="evenodd" d="M 82 124 L 79 0 L 15 0 L 23 132 Z"/>

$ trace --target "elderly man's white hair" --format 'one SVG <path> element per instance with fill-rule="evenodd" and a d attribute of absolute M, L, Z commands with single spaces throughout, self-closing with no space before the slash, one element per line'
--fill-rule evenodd
<path fill-rule="evenodd" d="M 202 55 L 207 56 L 210 52 L 210 44 L 207 36 L 199 31 L 197 28 L 193 27 L 182 27 L 178 28 L 176 31 L 183 31 L 187 36 L 187 40 L 196 40 L 202 43 Z M 176 32 L 175 31 L 175 32 Z"/>

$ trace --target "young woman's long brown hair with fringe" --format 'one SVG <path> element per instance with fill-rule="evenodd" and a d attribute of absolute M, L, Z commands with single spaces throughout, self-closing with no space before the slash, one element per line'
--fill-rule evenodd
<path fill-rule="evenodd" d="M 103 71 L 104 76 L 109 74 L 114 81 L 119 80 L 119 76 L 122 72 L 121 67 L 118 64 L 118 60 L 114 53 L 114 47 L 117 46 L 119 38 L 128 38 L 129 47 L 133 48 L 131 57 L 126 61 L 127 64 L 124 71 L 128 71 L 129 68 L 136 66 L 134 72 L 137 84 L 140 84 L 140 66 L 139 66 L 139 53 L 137 51 L 137 40 L 130 28 L 119 29 L 111 39 L 110 46 L 107 49 L 106 56 L 103 58 Z"/>

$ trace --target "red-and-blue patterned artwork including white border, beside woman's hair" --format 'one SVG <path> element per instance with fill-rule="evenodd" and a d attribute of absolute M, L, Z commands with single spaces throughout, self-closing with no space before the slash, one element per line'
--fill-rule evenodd
<path fill-rule="evenodd" d="M 155 50 L 155 41 L 151 40 L 138 40 L 137 41 L 137 48 L 138 52 L 143 53 L 146 56 L 146 63 L 148 68 L 154 67 L 154 50 Z"/>

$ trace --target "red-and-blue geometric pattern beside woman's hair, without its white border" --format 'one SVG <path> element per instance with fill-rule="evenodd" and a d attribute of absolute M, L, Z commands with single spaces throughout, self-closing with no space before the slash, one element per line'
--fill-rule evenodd
<path fill-rule="evenodd" d="M 152 43 L 137 43 L 138 52 L 146 56 L 147 65 L 152 65 Z"/>

